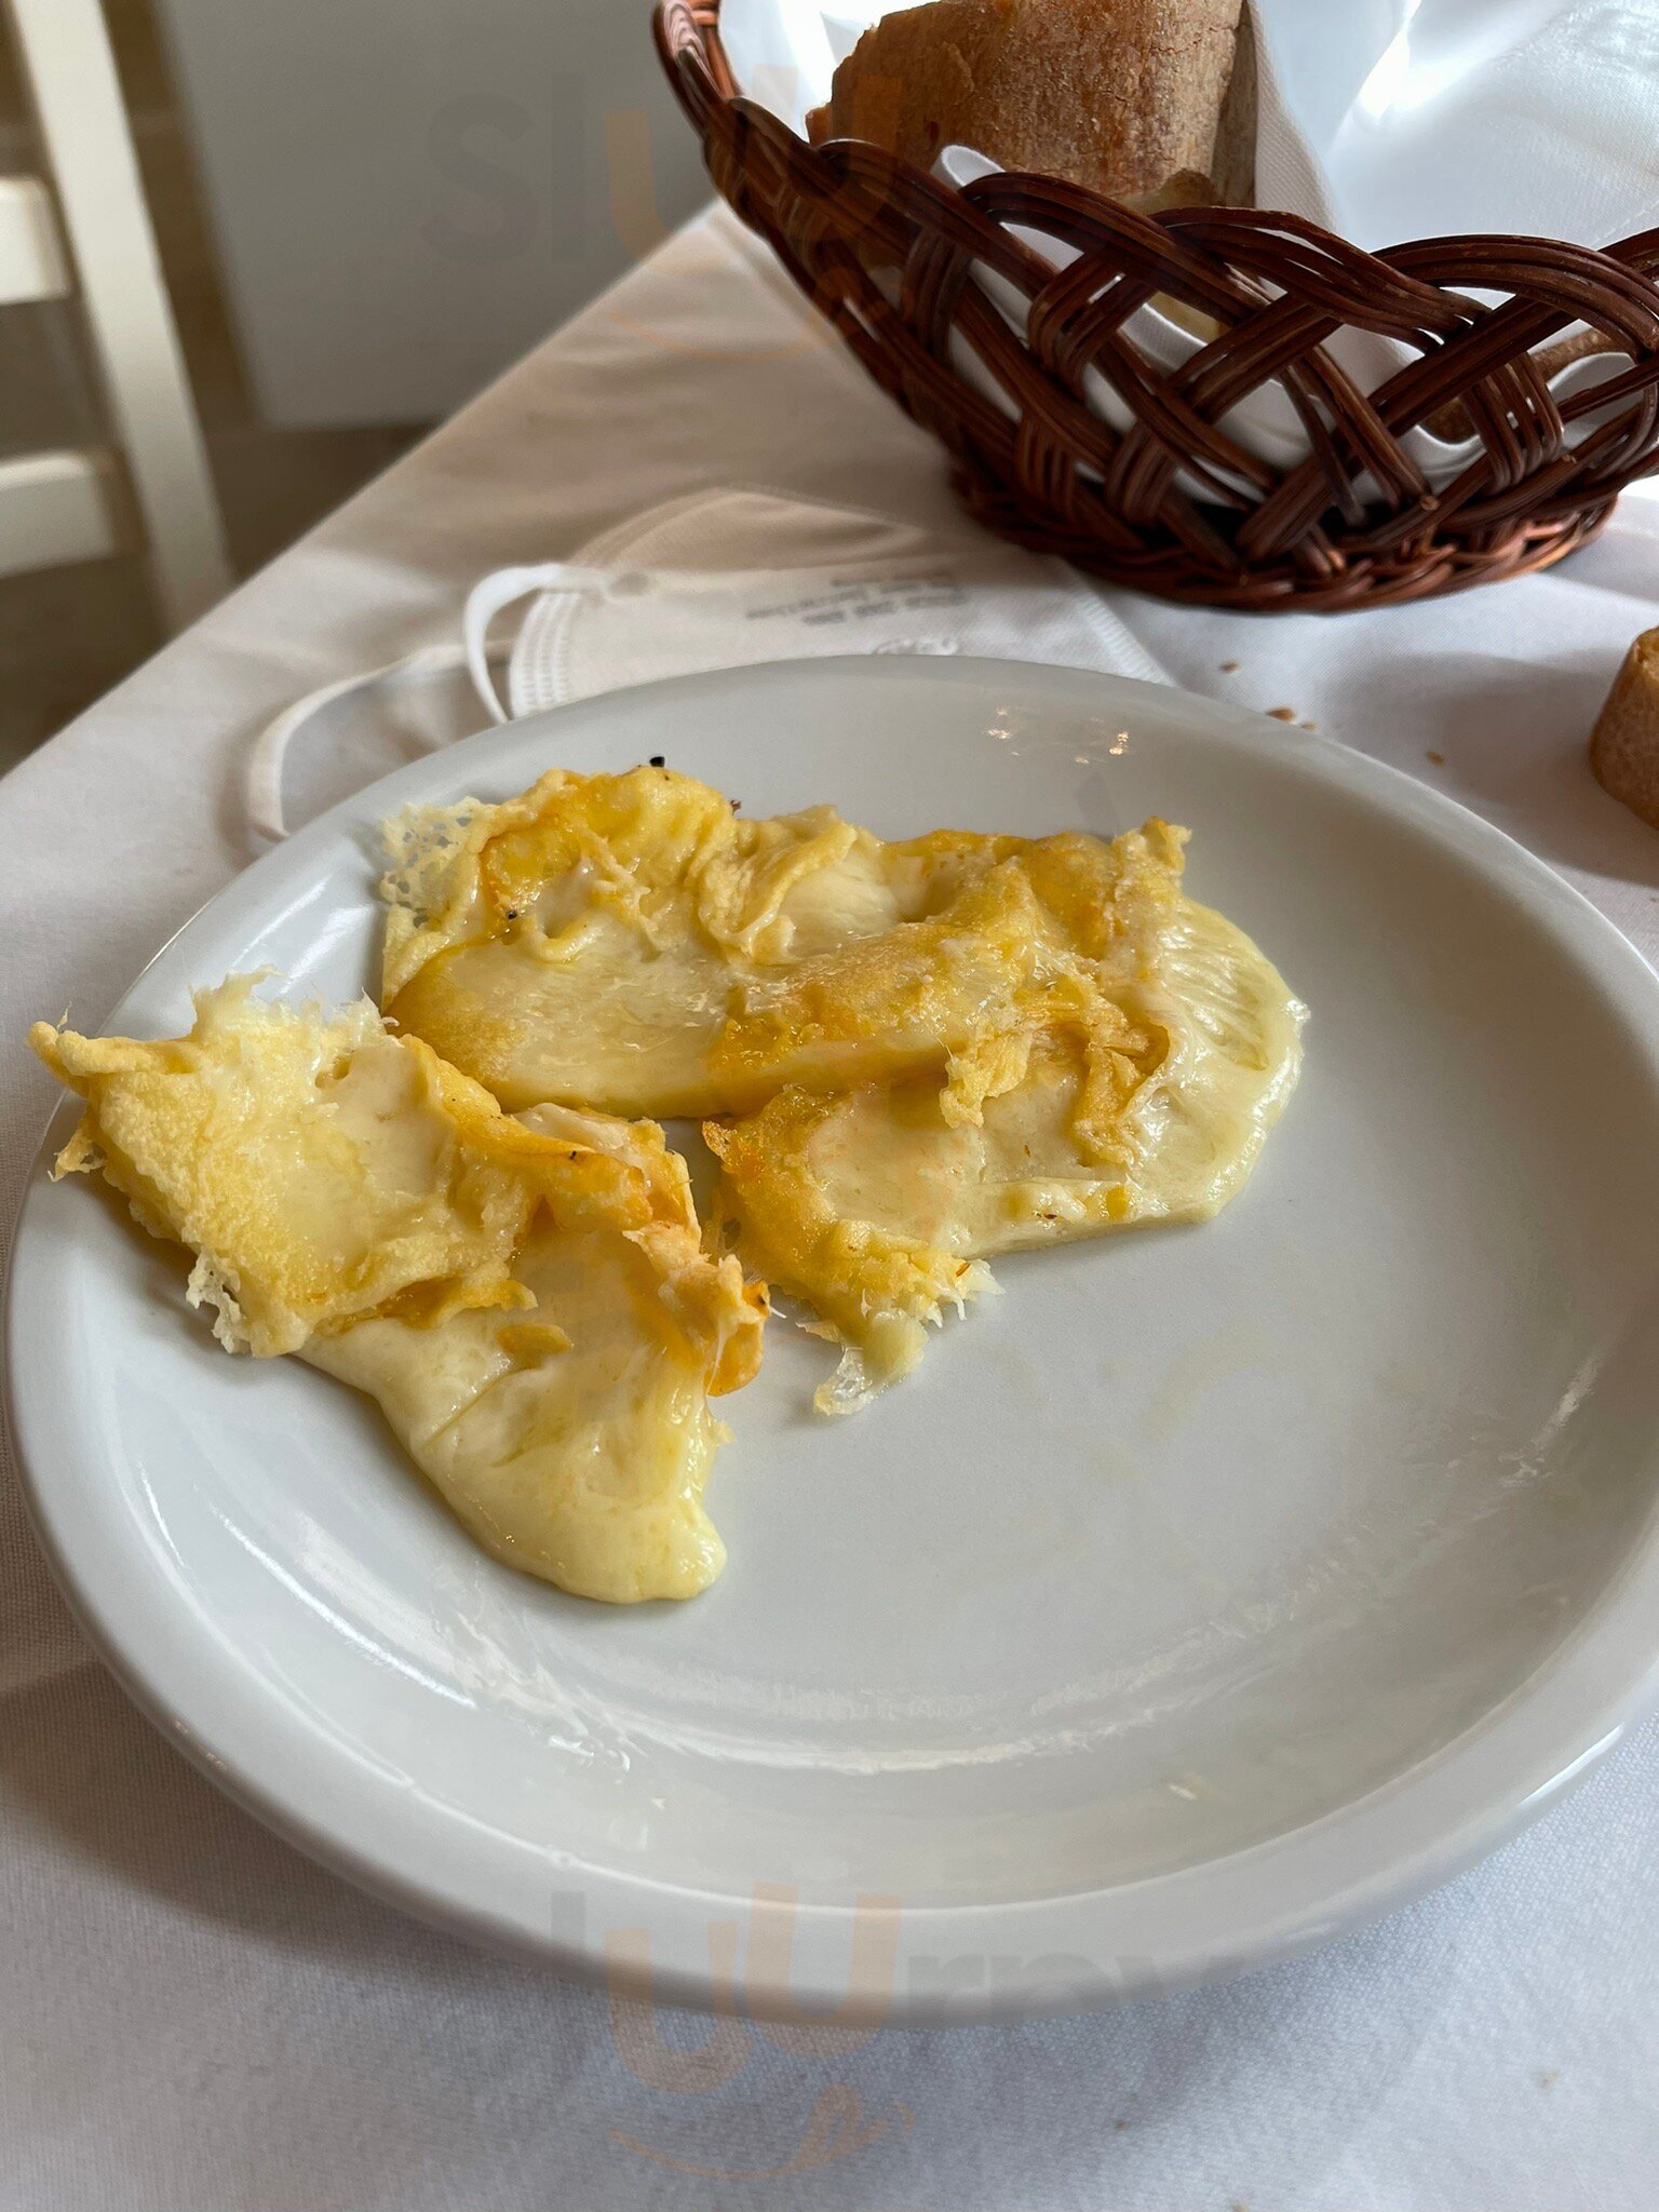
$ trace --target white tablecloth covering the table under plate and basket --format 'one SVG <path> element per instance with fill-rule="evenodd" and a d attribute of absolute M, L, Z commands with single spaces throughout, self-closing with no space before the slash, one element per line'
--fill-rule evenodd
<path fill-rule="evenodd" d="M 453 630 L 480 571 L 730 482 L 951 515 L 933 447 L 712 219 L 0 783 L 7 1221 L 49 1110 L 22 1026 L 100 1022 L 246 863 L 250 732 Z M 1117 604 L 1175 681 L 1413 768 L 1652 958 L 1659 836 L 1593 785 L 1584 734 L 1657 597 L 1637 498 L 1568 571 L 1440 606 Z M 376 741 L 358 772 L 394 759 Z M 723 2088 L 672 2095 L 635 2077 L 604 1997 L 361 1898 L 186 1767 L 88 1657 L 9 1469 L 0 1577 L 4 2212 L 1659 2203 L 1652 1725 L 1489 1865 L 1316 1958 L 836 2057 L 757 2039 Z"/>

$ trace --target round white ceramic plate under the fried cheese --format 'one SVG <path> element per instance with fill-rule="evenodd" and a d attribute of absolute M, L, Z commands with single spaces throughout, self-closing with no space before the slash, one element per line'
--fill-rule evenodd
<path fill-rule="evenodd" d="M 807 1411 L 827 1347 L 774 1325 L 726 1405 L 723 1582 L 606 1610 L 482 1557 L 365 1400 L 226 1358 L 173 1254 L 42 1172 L 15 1433 L 146 1708 L 451 1927 L 648 1958 L 681 1997 L 734 1955 L 761 2008 L 852 1978 L 902 2020 L 1259 1962 L 1537 1812 L 1659 1679 L 1637 953 L 1495 830 L 1276 721 L 863 659 L 420 761 L 248 869 L 113 1022 L 170 1035 L 190 984 L 261 964 L 361 991 L 383 814 L 648 754 L 887 836 L 1190 823 L 1194 891 L 1314 1009 L 1254 1181 L 1208 1228 L 998 1263 L 1006 1294 L 854 1422 Z"/>

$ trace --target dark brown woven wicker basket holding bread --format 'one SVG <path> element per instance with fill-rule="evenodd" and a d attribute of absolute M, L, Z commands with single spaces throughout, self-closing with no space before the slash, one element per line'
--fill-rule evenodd
<path fill-rule="evenodd" d="M 1659 230 L 1606 252 L 1449 237 L 1367 254 L 1254 208 L 1148 217 L 1011 173 L 958 190 L 858 139 L 807 146 L 739 97 L 719 0 L 661 0 L 657 46 L 717 190 L 945 445 L 964 504 L 1079 568 L 1212 606 L 1387 606 L 1562 560 L 1659 467 Z M 1013 228 L 1079 259 L 1055 270 Z M 1029 299 L 1024 336 L 975 263 Z M 1175 372 L 1124 330 L 1152 294 L 1221 325 Z M 1533 347 L 1573 323 L 1630 363 L 1557 405 Z M 1367 396 L 1325 347 L 1343 325 L 1418 358 Z M 962 347 L 1009 405 L 960 372 Z M 1086 405 L 1086 372 L 1115 389 L 1128 427 Z M 1274 378 L 1310 447 L 1283 469 L 1219 427 Z M 1480 445 L 1431 489 L 1402 438 L 1458 400 Z"/>

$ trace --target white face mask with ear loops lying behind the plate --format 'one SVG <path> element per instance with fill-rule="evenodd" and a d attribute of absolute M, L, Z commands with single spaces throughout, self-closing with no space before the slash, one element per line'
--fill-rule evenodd
<path fill-rule="evenodd" d="M 511 644 L 493 646 L 491 624 L 524 599 Z M 487 575 L 460 644 L 301 699 L 254 745 L 250 825 L 265 843 L 288 834 L 283 763 L 301 732 L 305 783 L 330 801 L 396 765 L 369 741 L 369 701 L 376 732 L 396 726 L 403 759 L 467 734 L 476 717 L 453 701 L 447 730 L 431 712 L 462 661 L 493 719 L 509 721 L 659 677 L 836 653 L 964 653 L 1164 679 L 1073 568 L 969 522 L 933 535 L 761 489 L 699 491 L 595 538 L 573 562 Z M 411 703 L 425 708 L 420 723 Z"/>

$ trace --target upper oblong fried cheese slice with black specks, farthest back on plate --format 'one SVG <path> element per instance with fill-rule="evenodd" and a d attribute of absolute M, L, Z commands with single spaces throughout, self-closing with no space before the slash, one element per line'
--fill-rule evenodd
<path fill-rule="evenodd" d="M 553 770 L 387 841 L 387 1015 L 509 1108 L 706 1117 L 947 1060 L 967 1093 L 1071 951 L 1064 838 L 885 845 L 666 768 Z"/>

